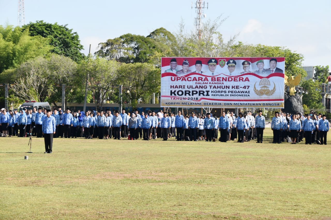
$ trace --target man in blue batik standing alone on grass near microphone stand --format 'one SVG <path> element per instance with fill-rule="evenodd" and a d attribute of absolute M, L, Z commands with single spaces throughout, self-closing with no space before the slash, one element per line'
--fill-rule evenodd
<path fill-rule="evenodd" d="M 44 135 L 45 152 L 51 154 L 53 151 L 53 135 L 56 131 L 55 118 L 51 116 L 52 112 L 50 109 L 46 110 L 46 117 L 42 122 L 42 134 Z"/>

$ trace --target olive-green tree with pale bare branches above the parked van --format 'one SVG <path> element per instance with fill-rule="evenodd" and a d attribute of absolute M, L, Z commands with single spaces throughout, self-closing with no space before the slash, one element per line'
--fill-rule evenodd
<path fill-rule="evenodd" d="M 56 85 L 67 84 L 72 86 L 73 90 L 82 87 L 81 82 L 74 80 L 75 71 L 74 61 L 69 57 L 54 54 L 49 58 L 37 57 L 17 68 L 5 70 L 0 79 L 11 83 L 10 93 L 22 100 L 49 101 L 55 104 L 62 99 L 61 89 L 55 92 Z M 81 95 L 77 93 L 78 96 Z M 66 93 L 66 98 L 71 96 L 72 94 Z"/>

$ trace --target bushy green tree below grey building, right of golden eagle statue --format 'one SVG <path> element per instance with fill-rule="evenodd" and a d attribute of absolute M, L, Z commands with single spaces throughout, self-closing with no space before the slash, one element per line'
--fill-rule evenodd
<path fill-rule="evenodd" d="M 302 81 L 301 82 L 302 88 L 304 88 L 308 94 L 303 94 L 302 96 L 302 104 L 307 105 L 308 107 L 316 105 L 320 103 L 322 100 L 321 93 L 318 89 L 320 86 L 319 82 L 314 82 L 312 79 Z"/>

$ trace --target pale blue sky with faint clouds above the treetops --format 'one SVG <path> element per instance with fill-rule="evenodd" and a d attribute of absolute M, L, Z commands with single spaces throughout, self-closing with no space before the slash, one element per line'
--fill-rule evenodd
<path fill-rule="evenodd" d="M 226 18 L 218 28 L 225 41 L 239 34 L 236 40 L 246 44 L 282 46 L 302 54 L 304 65 L 331 66 L 330 7 L 329 0 L 206 0 L 202 20 Z M 177 32 L 182 20 L 190 32 L 196 17 L 192 0 L 25 0 L 24 14 L 25 24 L 68 24 L 86 55 L 90 44 L 93 54 L 100 42 L 122 34 L 147 36 L 160 27 Z M 18 0 L 0 0 L 0 25 L 6 24 L 18 25 Z"/>

